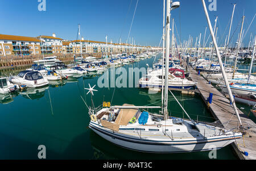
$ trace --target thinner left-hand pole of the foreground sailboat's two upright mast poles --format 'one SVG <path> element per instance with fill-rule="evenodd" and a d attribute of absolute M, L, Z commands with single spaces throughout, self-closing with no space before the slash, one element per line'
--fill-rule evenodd
<path fill-rule="evenodd" d="M 163 78 L 164 78 L 164 74 L 163 74 L 163 71 L 164 71 L 164 28 L 165 28 L 165 11 L 166 11 L 166 1 L 165 0 L 163 0 L 163 55 L 162 55 L 162 62 L 163 62 L 163 64 L 162 64 L 162 114 L 163 114 L 163 90 L 164 90 L 164 80 L 163 80 Z"/>

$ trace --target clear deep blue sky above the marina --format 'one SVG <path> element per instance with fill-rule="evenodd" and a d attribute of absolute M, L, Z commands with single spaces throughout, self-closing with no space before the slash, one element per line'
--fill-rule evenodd
<path fill-rule="evenodd" d="M 245 31 L 249 27 L 256 10 L 256 0 L 216 0 L 217 11 L 209 11 L 214 25 L 214 18 L 218 15 L 218 44 L 224 44 L 229 31 L 229 22 L 233 5 L 237 3 L 232 28 L 232 41 L 236 42 L 240 31 L 242 15 L 245 15 Z M 78 24 L 81 24 L 81 35 L 84 39 L 108 41 L 113 43 L 127 40 L 131 20 L 137 0 L 46 0 L 46 11 L 39 11 L 38 0 L 0 0 L 0 34 L 39 36 L 52 35 L 63 39 L 75 40 Z M 209 0 L 205 0 L 207 6 Z M 175 19 L 177 32 L 181 42 L 188 40 L 189 35 L 194 37 L 202 34 L 208 27 L 203 5 L 200 0 L 180 0 L 179 9 L 171 12 Z M 244 44 L 249 43 L 250 34 L 255 35 L 256 17 L 245 35 Z M 138 0 L 137 11 L 134 17 L 130 36 L 134 37 L 138 45 L 158 46 L 162 36 L 163 1 Z M 237 28 L 237 29 L 236 29 Z M 175 35 L 177 37 L 175 28 Z M 207 37 L 209 29 L 207 29 Z M 128 41 L 129 42 L 129 41 Z"/>

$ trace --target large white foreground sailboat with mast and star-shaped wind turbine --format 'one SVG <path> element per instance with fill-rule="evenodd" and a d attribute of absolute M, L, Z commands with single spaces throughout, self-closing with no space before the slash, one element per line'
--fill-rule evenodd
<path fill-rule="evenodd" d="M 166 30 L 170 30 L 170 10 L 179 7 L 179 2 L 167 0 Z M 171 6 L 171 9 L 168 8 Z M 166 32 L 166 65 L 170 49 L 170 32 Z M 168 74 L 168 67 L 165 69 Z M 149 153 L 179 153 L 209 151 L 220 149 L 242 137 L 240 132 L 225 128 L 196 123 L 187 112 L 189 120 L 168 116 L 168 77 L 165 78 L 164 104 L 160 106 L 122 106 L 88 107 L 89 128 L 104 139 L 120 147 Z M 87 94 L 93 97 L 94 85 L 89 85 Z M 171 91 L 170 91 L 171 92 Z M 175 96 L 174 96 L 175 97 Z M 163 97 L 162 97 L 163 98 Z M 176 99 L 176 98 L 175 98 Z M 85 102 L 85 101 L 84 101 Z M 85 103 L 86 104 L 86 103 Z M 106 105 L 106 104 L 105 104 Z M 160 114 L 146 111 L 160 109 Z M 162 115 L 163 114 L 163 115 Z M 214 146 L 213 146 L 214 145 Z"/>

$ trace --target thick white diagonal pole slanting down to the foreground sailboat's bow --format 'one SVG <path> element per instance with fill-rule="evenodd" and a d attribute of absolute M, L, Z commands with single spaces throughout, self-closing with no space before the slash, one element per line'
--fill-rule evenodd
<path fill-rule="evenodd" d="M 222 76 L 224 78 L 224 82 L 225 82 L 226 88 L 228 89 L 229 98 L 230 98 L 230 100 L 232 102 L 234 111 L 236 112 L 238 121 L 240 122 L 240 126 L 242 126 L 242 122 L 241 122 L 241 119 L 240 119 L 240 116 L 239 116 L 239 113 L 238 113 L 238 110 L 237 110 L 237 106 L 236 106 L 236 103 L 234 102 L 234 97 L 233 97 L 233 94 L 232 94 L 230 86 L 229 86 L 228 78 L 226 77 L 226 72 L 225 72 L 224 66 L 222 64 L 222 60 L 221 60 L 221 56 L 220 56 L 220 51 L 218 51 L 218 45 L 217 45 L 216 39 L 214 37 L 214 33 L 213 33 L 213 30 L 212 30 L 212 24 L 210 23 L 207 7 L 205 5 L 204 0 L 202 0 L 202 2 L 203 2 L 203 6 L 204 6 L 205 16 L 207 18 L 207 22 L 208 22 L 208 25 L 209 25 L 210 35 L 212 35 L 212 40 L 213 40 L 214 47 L 216 49 L 216 53 L 217 53 L 217 57 L 218 57 L 218 62 L 220 63 L 221 73 L 222 73 Z"/>

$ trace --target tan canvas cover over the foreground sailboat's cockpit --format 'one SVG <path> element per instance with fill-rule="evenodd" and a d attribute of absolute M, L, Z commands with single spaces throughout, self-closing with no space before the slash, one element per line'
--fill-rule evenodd
<path fill-rule="evenodd" d="M 134 105 L 124 104 L 123 106 L 134 106 Z M 127 126 L 131 118 L 133 118 L 133 116 L 137 114 L 137 112 L 139 112 L 138 109 L 121 109 L 117 116 L 117 119 L 115 119 L 115 124 L 118 124 L 121 126 Z"/>

